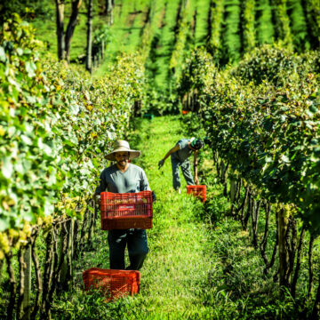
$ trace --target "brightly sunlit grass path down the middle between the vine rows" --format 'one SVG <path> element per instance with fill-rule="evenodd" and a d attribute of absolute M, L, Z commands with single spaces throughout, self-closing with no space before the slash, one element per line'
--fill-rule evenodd
<path fill-rule="evenodd" d="M 174 116 L 156 117 L 151 122 L 141 122 L 135 133 L 138 139 L 134 148 L 142 151 L 137 164 L 145 169 L 157 196 L 154 228 L 148 230 L 150 252 L 141 269 L 143 304 L 148 305 L 151 318 L 160 316 L 160 306 L 161 315 L 176 318 L 201 313 L 203 297 L 199 292 L 216 263 L 209 250 L 209 234 L 203 223 L 196 220 L 203 204 L 173 190 L 170 158 L 163 168 L 157 169 L 157 162 L 184 138 L 180 122 Z M 186 183 L 182 182 L 181 189 L 186 190 Z"/>

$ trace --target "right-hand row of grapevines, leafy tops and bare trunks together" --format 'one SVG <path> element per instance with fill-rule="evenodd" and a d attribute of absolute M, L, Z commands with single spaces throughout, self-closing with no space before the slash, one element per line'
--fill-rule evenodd
<path fill-rule="evenodd" d="M 213 60 L 204 51 L 191 55 L 180 98 L 189 95 L 196 101 L 194 111 L 202 119 L 230 199 L 229 213 L 244 230 L 250 229 L 264 273 L 274 269 L 275 281 L 293 299 L 301 292 L 297 286 L 307 285 L 316 318 L 320 285 L 315 293 L 319 269 L 315 275 L 314 265 L 319 256 L 313 256 L 313 244 L 320 229 L 320 56 L 298 56 L 266 45 L 235 68 L 222 71 Z M 268 257 L 271 234 L 276 236 Z M 300 280 L 303 260 L 308 261 L 308 284 Z"/>

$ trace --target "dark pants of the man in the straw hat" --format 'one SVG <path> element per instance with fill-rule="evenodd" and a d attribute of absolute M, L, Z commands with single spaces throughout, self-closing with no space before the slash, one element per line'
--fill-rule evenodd
<path fill-rule="evenodd" d="M 124 270 L 124 251 L 128 246 L 130 266 L 127 270 L 139 270 L 148 253 L 145 229 L 114 229 L 108 231 L 109 261 L 111 269 Z"/>

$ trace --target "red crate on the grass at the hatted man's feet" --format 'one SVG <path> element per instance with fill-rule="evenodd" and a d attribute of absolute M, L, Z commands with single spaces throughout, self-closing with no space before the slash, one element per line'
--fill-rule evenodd
<path fill-rule="evenodd" d="M 140 272 L 136 270 L 115 270 L 90 268 L 83 272 L 84 291 L 100 290 L 107 301 L 140 291 Z"/>

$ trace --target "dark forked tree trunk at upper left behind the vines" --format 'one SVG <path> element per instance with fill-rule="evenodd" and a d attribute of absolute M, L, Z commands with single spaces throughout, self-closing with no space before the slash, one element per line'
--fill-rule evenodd
<path fill-rule="evenodd" d="M 79 13 L 82 0 L 72 0 L 72 11 L 68 21 L 66 33 L 64 32 L 64 4 L 65 0 L 55 0 L 57 7 L 57 37 L 58 37 L 58 58 L 59 60 L 70 58 L 71 39 L 76 28 L 76 20 Z"/>

